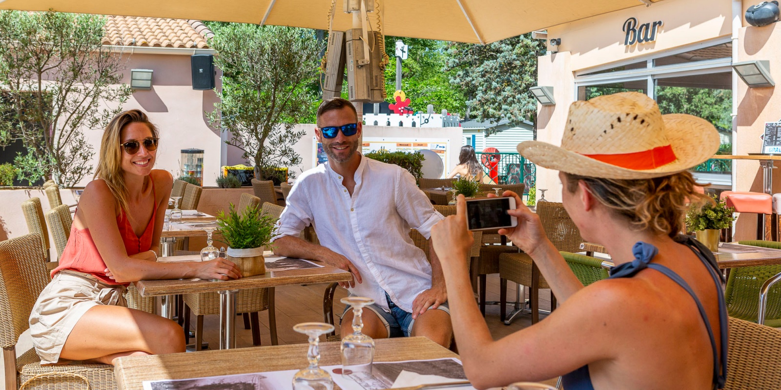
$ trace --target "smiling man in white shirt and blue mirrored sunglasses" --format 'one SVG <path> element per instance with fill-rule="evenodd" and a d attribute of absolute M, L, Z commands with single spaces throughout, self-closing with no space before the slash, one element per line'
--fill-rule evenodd
<path fill-rule="evenodd" d="M 431 227 L 444 217 L 404 168 L 358 152 L 362 126 L 349 101 L 323 101 L 315 133 L 328 162 L 304 172 L 288 194 L 275 254 L 350 271 L 353 280 L 341 285 L 353 296 L 375 300 L 363 310 L 366 335 L 426 336 L 448 346 L 452 326 L 439 259 L 432 250 L 429 264 L 409 238 L 411 228 L 429 238 Z M 298 238 L 310 224 L 320 245 Z M 343 337 L 352 333 L 352 317 L 346 310 Z"/>

